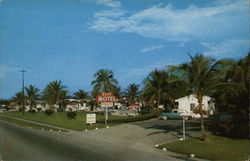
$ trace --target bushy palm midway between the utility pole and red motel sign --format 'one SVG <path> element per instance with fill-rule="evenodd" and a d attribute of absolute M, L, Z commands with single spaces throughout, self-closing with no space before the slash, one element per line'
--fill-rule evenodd
<path fill-rule="evenodd" d="M 51 108 L 53 108 L 55 104 L 58 104 L 60 102 L 60 95 L 65 88 L 66 86 L 63 86 L 61 81 L 55 80 L 53 82 L 50 82 L 43 92 L 44 101 L 48 103 Z"/>

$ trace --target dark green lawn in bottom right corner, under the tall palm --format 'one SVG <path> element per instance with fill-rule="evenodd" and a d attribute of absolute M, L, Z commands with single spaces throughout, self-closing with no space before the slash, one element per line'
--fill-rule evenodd
<path fill-rule="evenodd" d="M 209 160 L 245 161 L 249 155 L 249 140 L 236 140 L 226 137 L 209 135 L 209 142 L 199 138 L 177 141 L 160 146 L 169 151 L 181 154 L 195 154 L 198 158 Z"/>

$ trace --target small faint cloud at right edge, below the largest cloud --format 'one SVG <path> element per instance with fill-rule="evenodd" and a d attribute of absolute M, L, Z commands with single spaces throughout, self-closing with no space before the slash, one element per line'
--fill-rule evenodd
<path fill-rule="evenodd" d="M 201 42 L 201 45 L 207 50 L 204 52 L 207 56 L 235 58 L 249 52 L 249 43 L 249 40 L 230 39 L 220 43 Z"/>

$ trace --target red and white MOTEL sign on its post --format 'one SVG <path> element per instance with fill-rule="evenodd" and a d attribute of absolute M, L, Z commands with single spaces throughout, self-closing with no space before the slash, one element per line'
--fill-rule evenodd
<path fill-rule="evenodd" d="M 105 124 L 108 124 L 108 108 L 113 106 L 113 102 L 116 102 L 116 96 L 112 93 L 100 93 L 99 96 L 96 97 L 96 102 L 101 103 L 101 107 L 105 108 Z"/>

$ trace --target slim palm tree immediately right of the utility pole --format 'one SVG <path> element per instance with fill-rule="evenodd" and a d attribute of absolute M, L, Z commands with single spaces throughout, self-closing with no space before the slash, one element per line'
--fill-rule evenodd
<path fill-rule="evenodd" d="M 36 102 L 39 99 L 39 89 L 36 88 L 33 85 L 30 85 L 28 87 L 25 87 L 26 94 L 27 94 L 27 100 L 29 101 L 30 104 L 30 111 L 32 111 L 32 107 L 36 106 Z"/>

